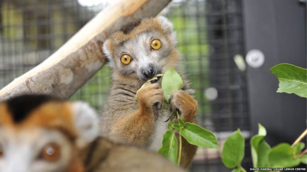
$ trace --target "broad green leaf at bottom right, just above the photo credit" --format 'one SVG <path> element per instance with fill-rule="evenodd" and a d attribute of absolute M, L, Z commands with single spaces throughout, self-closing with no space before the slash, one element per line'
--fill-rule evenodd
<path fill-rule="evenodd" d="M 301 162 L 301 160 L 295 155 L 294 147 L 291 147 L 287 143 L 281 143 L 276 147 L 273 147 L 269 154 L 269 160 L 273 168 L 295 167 Z"/>

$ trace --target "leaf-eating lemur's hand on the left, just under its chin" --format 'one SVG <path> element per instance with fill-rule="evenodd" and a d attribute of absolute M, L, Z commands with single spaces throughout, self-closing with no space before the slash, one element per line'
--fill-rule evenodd
<path fill-rule="evenodd" d="M 159 88 L 158 83 L 150 84 L 149 86 L 139 90 L 136 94 L 140 103 L 140 108 L 143 111 L 152 112 L 154 120 L 157 119 L 157 106 L 164 101 L 163 91 Z"/>

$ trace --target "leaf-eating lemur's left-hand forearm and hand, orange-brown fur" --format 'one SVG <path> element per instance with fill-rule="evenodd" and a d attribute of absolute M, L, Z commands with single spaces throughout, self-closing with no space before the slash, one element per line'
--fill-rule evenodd
<path fill-rule="evenodd" d="M 154 131 L 153 105 L 164 100 L 163 92 L 158 84 L 151 84 L 136 95 L 139 108 L 117 121 L 111 127 L 111 133 L 123 137 L 133 145 L 145 146 Z"/>

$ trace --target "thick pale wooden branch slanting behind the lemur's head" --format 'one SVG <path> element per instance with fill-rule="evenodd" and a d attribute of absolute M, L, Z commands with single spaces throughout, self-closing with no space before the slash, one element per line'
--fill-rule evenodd
<path fill-rule="evenodd" d="M 135 18 L 157 15 L 171 0 L 117 0 L 98 13 L 41 64 L 0 90 L 0 100 L 20 94 L 68 98 L 105 63 L 104 40 Z"/>

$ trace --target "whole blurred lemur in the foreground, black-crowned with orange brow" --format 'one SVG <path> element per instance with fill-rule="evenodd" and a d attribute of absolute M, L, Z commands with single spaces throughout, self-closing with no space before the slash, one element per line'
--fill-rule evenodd
<path fill-rule="evenodd" d="M 0 102 L 0 172 L 182 172 L 98 134 L 98 117 L 84 102 L 38 95 Z"/>

